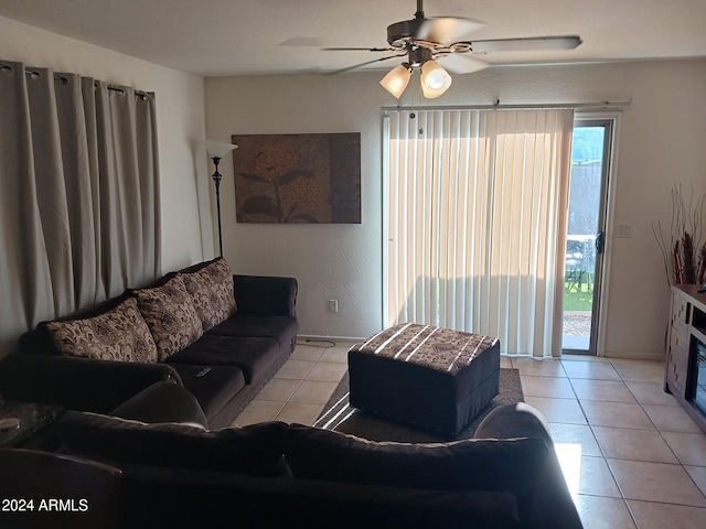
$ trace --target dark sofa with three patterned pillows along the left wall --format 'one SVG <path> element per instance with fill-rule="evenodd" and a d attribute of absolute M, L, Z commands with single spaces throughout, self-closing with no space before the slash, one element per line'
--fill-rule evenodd
<path fill-rule="evenodd" d="M 211 289 L 216 283 L 226 289 L 226 294 L 222 289 L 221 299 L 217 290 Z M 189 289 L 189 295 L 184 295 L 188 284 L 194 287 Z M 150 343 L 146 353 L 145 342 L 152 338 L 131 337 L 129 346 L 118 343 L 120 354 L 129 349 L 118 359 L 114 358 L 114 353 L 113 356 L 101 350 L 85 353 L 84 344 L 74 343 L 83 338 L 75 339 L 65 330 L 60 330 L 64 334 L 52 335 L 58 332 L 56 328 L 62 323 L 71 326 L 90 321 L 93 323 L 85 324 L 81 331 L 87 328 L 86 332 L 96 335 L 107 334 L 107 337 L 98 338 L 106 339 L 104 349 L 108 350 L 142 322 L 140 314 L 132 310 L 129 313 L 132 320 L 128 320 L 127 325 L 118 323 L 106 331 L 109 324 L 100 319 L 118 309 L 125 312 L 127 306 L 130 310 L 128 305 L 137 303 L 147 321 L 149 311 L 154 311 L 154 301 L 162 301 L 157 294 L 164 291 L 170 295 L 178 291 L 174 295 L 184 298 L 183 306 L 195 307 L 193 314 L 189 309 L 191 323 L 194 314 L 202 321 L 211 316 L 199 312 L 199 300 L 206 310 L 218 303 L 228 306 L 216 320 L 211 320 L 213 326 L 206 330 L 206 323 L 199 323 L 202 328 L 191 336 L 182 332 L 189 326 L 184 311 L 178 309 L 173 314 L 158 311 L 153 315 L 156 323 L 149 326 L 156 345 Z M 183 386 L 196 398 L 211 428 L 227 427 L 292 353 L 298 331 L 296 299 L 297 281 L 293 278 L 234 276 L 222 258 L 201 262 L 170 272 L 140 289 L 127 290 L 98 306 L 42 322 L 21 336 L 19 353 L 0 363 L 0 393 L 8 400 L 107 413 L 154 382 L 171 381 Z M 172 316 L 173 321 L 167 321 Z M 69 331 L 77 332 L 75 328 Z M 117 336 L 109 336 L 110 333 Z M 173 343 L 172 333 L 183 338 L 181 343 Z M 71 346 L 72 356 L 62 354 L 57 347 L 64 343 Z M 206 367 L 208 373 L 199 376 Z"/>

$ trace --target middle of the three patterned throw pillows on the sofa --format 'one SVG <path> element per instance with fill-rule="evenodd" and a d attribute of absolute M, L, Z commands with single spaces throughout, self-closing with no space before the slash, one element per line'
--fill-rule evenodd
<path fill-rule="evenodd" d="M 161 287 L 133 292 L 152 333 L 160 360 L 194 343 L 203 334 L 191 296 L 179 276 Z"/>

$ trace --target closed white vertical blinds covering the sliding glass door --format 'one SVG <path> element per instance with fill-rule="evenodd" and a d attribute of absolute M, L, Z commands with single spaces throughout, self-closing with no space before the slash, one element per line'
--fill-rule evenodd
<path fill-rule="evenodd" d="M 385 117 L 386 320 L 560 355 L 571 109 Z"/>

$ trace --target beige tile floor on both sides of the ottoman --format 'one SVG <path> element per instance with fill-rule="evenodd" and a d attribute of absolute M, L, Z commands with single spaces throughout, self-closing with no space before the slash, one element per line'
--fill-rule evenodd
<path fill-rule="evenodd" d="M 301 342 L 235 424 L 311 424 L 351 343 Z M 706 434 L 662 391 L 659 361 L 502 357 L 547 418 L 586 529 L 706 527 Z"/>

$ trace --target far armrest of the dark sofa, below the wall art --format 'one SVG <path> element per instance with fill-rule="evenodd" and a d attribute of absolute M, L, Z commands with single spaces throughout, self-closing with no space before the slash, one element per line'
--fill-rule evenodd
<path fill-rule="evenodd" d="M 295 278 L 233 276 L 238 313 L 254 316 L 296 316 Z"/>

